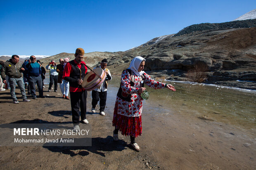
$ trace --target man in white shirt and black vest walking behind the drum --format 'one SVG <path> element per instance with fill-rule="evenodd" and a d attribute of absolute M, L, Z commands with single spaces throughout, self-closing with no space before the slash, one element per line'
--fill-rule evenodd
<path fill-rule="evenodd" d="M 107 69 L 107 59 L 103 59 L 100 63 L 100 67 L 105 71 L 107 77 L 105 81 L 92 91 L 92 113 L 95 113 L 95 107 L 100 100 L 100 115 L 105 116 L 104 109 L 107 100 L 107 81 L 111 80 L 111 74 Z"/>

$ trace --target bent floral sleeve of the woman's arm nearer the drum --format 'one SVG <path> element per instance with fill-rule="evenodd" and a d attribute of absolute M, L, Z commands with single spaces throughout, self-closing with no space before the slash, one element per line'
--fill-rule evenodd
<path fill-rule="evenodd" d="M 121 88 L 122 88 L 122 91 L 127 94 L 138 93 L 139 88 L 130 86 L 130 74 L 127 70 L 124 70 L 122 73 Z"/>

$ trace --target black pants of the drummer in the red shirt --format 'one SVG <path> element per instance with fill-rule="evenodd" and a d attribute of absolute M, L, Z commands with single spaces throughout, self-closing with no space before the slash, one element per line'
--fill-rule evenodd
<path fill-rule="evenodd" d="M 71 112 L 73 123 L 79 123 L 81 109 L 81 120 L 86 119 L 86 98 L 87 91 L 70 92 Z"/>

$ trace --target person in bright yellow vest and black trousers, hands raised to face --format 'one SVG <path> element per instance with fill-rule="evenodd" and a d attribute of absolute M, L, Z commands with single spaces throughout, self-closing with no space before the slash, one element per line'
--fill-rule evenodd
<path fill-rule="evenodd" d="M 54 92 L 57 92 L 57 88 L 58 88 L 58 73 L 57 73 L 57 67 L 56 67 L 56 63 L 54 60 L 52 60 L 48 65 L 46 65 L 46 69 L 50 70 L 50 84 L 49 84 L 49 88 L 48 91 L 51 92 L 52 89 L 52 84 L 54 83 Z"/>

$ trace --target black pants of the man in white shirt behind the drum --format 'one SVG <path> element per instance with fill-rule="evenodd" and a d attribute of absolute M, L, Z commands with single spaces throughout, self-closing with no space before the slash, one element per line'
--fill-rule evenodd
<path fill-rule="evenodd" d="M 107 91 L 92 91 L 92 107 L 95 108 L 100 100 L 100 112 L 104 112 L 107 100 Z"/>

